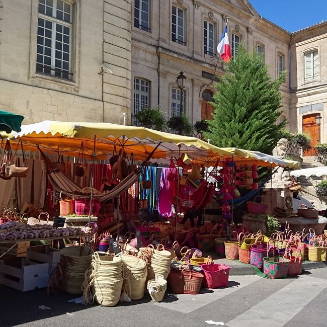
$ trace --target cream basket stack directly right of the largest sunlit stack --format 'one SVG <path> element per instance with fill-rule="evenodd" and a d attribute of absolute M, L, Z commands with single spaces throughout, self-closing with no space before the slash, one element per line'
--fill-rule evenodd
<path fill-rule="evenodd" d="M 123 289 L 131 300 L 143 297 L 147 269 L 145 262 L 130 255 L 122 255 L 124 283 Z"/>

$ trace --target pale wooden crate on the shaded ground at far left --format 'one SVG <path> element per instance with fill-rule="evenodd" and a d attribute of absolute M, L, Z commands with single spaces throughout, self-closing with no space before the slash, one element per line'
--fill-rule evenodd
<path fill-rule="evenodd" d="M 0 262 L 0 284 L 26 292 L 47 287 L 49 264 L 32 264 L 26 258 Z"/>

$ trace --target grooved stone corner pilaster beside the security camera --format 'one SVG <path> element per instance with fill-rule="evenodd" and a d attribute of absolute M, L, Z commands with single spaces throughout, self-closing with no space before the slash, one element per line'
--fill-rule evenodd
<path fill-rule="evenodd" d="M 131 121 L 132 0 L 104 0 L 103 62 L 112 73 L 103 74 L 104 121 Z"/>

